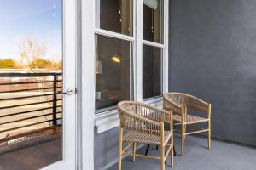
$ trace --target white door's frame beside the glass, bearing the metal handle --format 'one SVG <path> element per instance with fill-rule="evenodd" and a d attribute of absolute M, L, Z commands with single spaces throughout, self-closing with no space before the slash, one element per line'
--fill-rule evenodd
<path fill-rule="evenodd" d="M 63 91 L 76 88 L 77 21 L 76 1 L 62 0 L 63 27 Z M 76 168 L 76 95 L 63 95 L 62 160 L 43 170 L 73 170 Z"/>

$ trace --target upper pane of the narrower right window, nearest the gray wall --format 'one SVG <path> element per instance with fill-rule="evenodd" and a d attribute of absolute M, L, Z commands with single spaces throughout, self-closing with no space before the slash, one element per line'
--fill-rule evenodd
<path fill-rule="evenodd" d="M 143 39 L 163 42 L 163 0 L 143 0 Z"/>

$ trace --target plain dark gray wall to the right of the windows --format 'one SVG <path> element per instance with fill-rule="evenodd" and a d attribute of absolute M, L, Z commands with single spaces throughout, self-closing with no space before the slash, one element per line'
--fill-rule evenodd
<path fill-rule="evenodd" d="M 212 136 L 256 145 L 256 1 L 171 0 L 169 90 L 212 103 Z"/>

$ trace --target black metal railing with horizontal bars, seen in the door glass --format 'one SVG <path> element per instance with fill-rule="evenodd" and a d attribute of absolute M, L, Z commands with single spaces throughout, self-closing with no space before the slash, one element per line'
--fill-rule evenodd
<path fill-rule="evenodd" d="M 60 129 L 61 73 L 0 73 L 0 146 Z"/>

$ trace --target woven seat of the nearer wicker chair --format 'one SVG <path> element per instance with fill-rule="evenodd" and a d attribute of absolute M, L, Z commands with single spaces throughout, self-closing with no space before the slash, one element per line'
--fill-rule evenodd
<path fill-rule="evenodd" d="M 170 131 L 165 132 L 165 145 L 171 138 L 172 133 Z M 149 133 L 142 133 L 138 131 L 130 131 L 126 133 L 124 136 L 125 142 L 135 142 L 141 144 L 158 144 L 160 145 L 160 136 L 149 134 Z"/>

